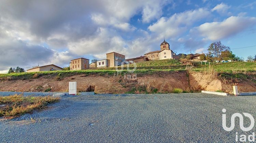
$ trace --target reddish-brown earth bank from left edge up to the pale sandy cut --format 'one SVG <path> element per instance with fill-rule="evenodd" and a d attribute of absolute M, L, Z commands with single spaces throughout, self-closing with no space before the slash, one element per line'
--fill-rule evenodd
<path fill-rule="evenodd" d="M 186 72 L 156 72 L 137 74 L 137 79 L 129 80 L 124 76 L 110 75 L 74 75 L 58 80 L 55 76 L 42 76 L 25 80 L 4 80 L 0 82 L 0 91 L 19 92 L 68 92 L 69 81 L 77 82 L 77 91 L 86 91 L 89 85 L 95 87 L 96 93 L 126 93 L 134 91 L 143 93 L 147 88 L 157 92 L 171 92 L 173 88 L 189 90 Z"/>

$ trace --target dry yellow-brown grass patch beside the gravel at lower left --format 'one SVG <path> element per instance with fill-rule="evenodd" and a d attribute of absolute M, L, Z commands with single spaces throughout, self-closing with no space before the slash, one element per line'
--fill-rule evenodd
<path fill-rule="evenodd" d="M 46 107 L 47 104 L 58 102 L 60 98 L 52 96 L 0 96 L 0 116 L 18 116 L 25 113 L 32 112 L 33 110 L 41 110 Z"/>

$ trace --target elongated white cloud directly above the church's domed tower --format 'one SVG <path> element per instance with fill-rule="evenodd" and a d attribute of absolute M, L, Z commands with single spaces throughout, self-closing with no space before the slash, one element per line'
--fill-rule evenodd
<path fill-rule="evenodd" d="M 207 9 L 190 10 L 182 13 L 175 13 L 171 17 L 161 17 L 156 23 L 150 25 L 148 29 L 161 37 L 167 38 L 180 35 L 187 30 L 188 26 L 193 25 L 195 21 L 210 15 Z"/>

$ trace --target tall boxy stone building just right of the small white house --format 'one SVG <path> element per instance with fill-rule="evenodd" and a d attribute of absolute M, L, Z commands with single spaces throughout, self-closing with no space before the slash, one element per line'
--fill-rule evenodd
<path fill-rule="evenodd" d="M 125 55 L 116 52 L 106 53 L 106 60 L 109 60 L 108 67 L 120 66 L 124 64 Z"/>

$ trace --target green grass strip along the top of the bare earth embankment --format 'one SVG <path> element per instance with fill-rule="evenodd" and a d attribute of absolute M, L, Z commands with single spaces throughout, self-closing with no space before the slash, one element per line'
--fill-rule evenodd
<path fill-rule="evenodd" d="M 126 67 L 122 70 L 122 74 L 128 73 Z M 188 65 L 189 66 L 189 65 Z M 255 72 L 256 62 L 232 62 L 232 63 L 222 63 L 217 65 L 211 65 L 212 68 L 218 73 L 239 73 L 239 72 Z M 129 64 L 129 69 L 133 69 L 134 64 Z M 156 60 L 156 61 L 146 61 L 141 63 L 136 63 L 136 69 L 133 73 L 148 74 L 159 71 L 184 71 L 187 65 L 181 65 L 179 60 Z M 204 71 L 209 68 L 208 65 L 194 66 L 192 70 L 196 72 Z M 120 72 L 121 66 L 118 66 L 118 71 Z M 100 68 L 100 69 L 88 69 L 88 70 L 60 70 L 60 71 L 45 71 L 45 72 L 31 72 L 31 73 L 12 73 L 12 74 L 0 74 L 0 78 L 10 77 L 11 79 L 28 79 L 37 78 L 43 75 L 53 75 L 59 78 L 79 75 L 79 74 L 99 74 L 99 75 L 114 75 L 117 73 L 115 67 L 111 68 Z"/>

